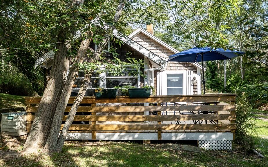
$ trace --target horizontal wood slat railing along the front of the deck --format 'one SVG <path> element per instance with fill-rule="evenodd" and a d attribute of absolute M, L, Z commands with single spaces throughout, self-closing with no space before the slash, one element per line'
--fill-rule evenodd
<path fill-rule="evenodd" d="M 235 94 L 209 94 L 209 95 L 174 95 L 174 96 L 151 96 L 149 98 L 129 98 L 126 96 L 119 96 L 115 99 L 96 99 L 94 97 L 84 97 L 83 105 L 80 105 L 77 112 L 88 113 L 86 115 L 75 116 L 74 121 L 91 121 L 87 124 L 72 124 L 70 131 L 78 130 L 91 131 L 92 139 L 96 139 L 96 132 L 98 130 L 157 130 L 158 140 L 161 140 L 162 130 L 225 130 L 235 132 L 236 130 L 236 114 L 234 104 Z M 26 112 L 27 112 L 27 126 L 30 130 L 32 121 L 35 119 L 35 112 L 37 112 L 41 97 L 25 97 Z M 70 97 L 68 104 L 72 104 L 74 97 Z M 173 102 L 200 102 L 200 101 L 221 101 L 218 105 L 184 105 L 184 106 L 161 106 L 160 103 Z M 227 103 L 229 102 L 229 103 Z M 120 106 L 114 106 L 114 103 Z M 136 103 L 139 106 L 129 106 Z M 143 106 L 144 103 L 155 103 L 154 106 Z M 105 106 L 102 106 L 105 105 Z M 70 106 L 66 107 L 65 112 L 70 111 Z M 179 114 L 178 111 L 218 111 L 218 114 L 195 114 L 195 115 L 161 115 L 162 112 L 171 112 Z M 145 115 L 145 112 L 155 112 L 157 115 Z M 106 115 L 98 115 L 106 114 Z M 111 115 L 114 114 L 114 115 Z M 144 115 L 133 115 L 136 113 L 144 113 Z M 97 114 L 97 115 L 96 115 Z M 108 115 L 109 114 L 109 115 Z M 119 114 L 119 115 L 118 115 Z M 121 115 L 122 114 L 122 115 Z M 123 115 L 127 114 L 127 115 Z M 67 115 L 64 115 L 65 121 Z M 219 124 L 190 124 L 189 121 L 205 121 L 205 120 L 220 120 Z M 99 122 L 97 122 L 99 121 Z M 127 124 L 111 124 L 107 121 L 128 122 Z M 146 124 L 148 121 L 156 121 L 157 124 Z M 181 124 L 164 124 L 162 121 L 183 121 Z M 186 122 L 187 121 L 187 122 Z M 135 123 L 131 123 L 135 122 Z M 63 125 L 61 125 L 63 126 Z"/>

